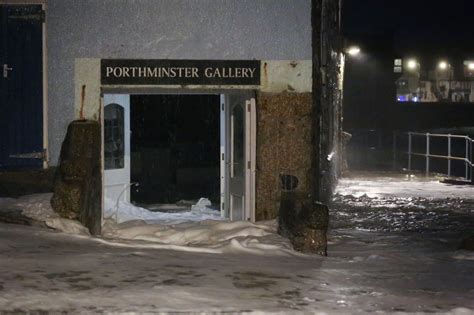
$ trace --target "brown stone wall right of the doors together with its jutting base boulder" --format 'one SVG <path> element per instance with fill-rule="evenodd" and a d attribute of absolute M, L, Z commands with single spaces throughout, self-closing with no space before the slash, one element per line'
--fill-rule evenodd
<path fill-rule="evenodd" d="M 326 254 L 327 207 L 314 202 L 312 97 L 260 93 L 257 106 L 257 220 L 279 216 L 296 250 Z"/>

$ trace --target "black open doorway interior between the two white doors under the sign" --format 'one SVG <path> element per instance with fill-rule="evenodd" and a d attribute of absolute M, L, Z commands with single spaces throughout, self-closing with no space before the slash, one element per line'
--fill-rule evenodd
<path fill-rule="evenodd" d="M 132 202 L 219 204 L 219 106 L 219 95 L 130 96 Z"/>

